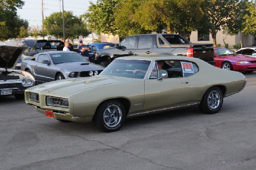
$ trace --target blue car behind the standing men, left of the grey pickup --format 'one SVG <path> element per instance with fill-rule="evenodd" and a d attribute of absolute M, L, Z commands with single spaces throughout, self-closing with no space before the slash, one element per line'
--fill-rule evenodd
<path fill-rule="evenodd" d="M 90 52 L 89 52 L 89 61 L 93 63 L 96 52 L 100 49 L 107 49 L 107 48 L 114 48 L 115 44 L 114 43 L 89 43 L 88 46 L 90 47 Z"/>

